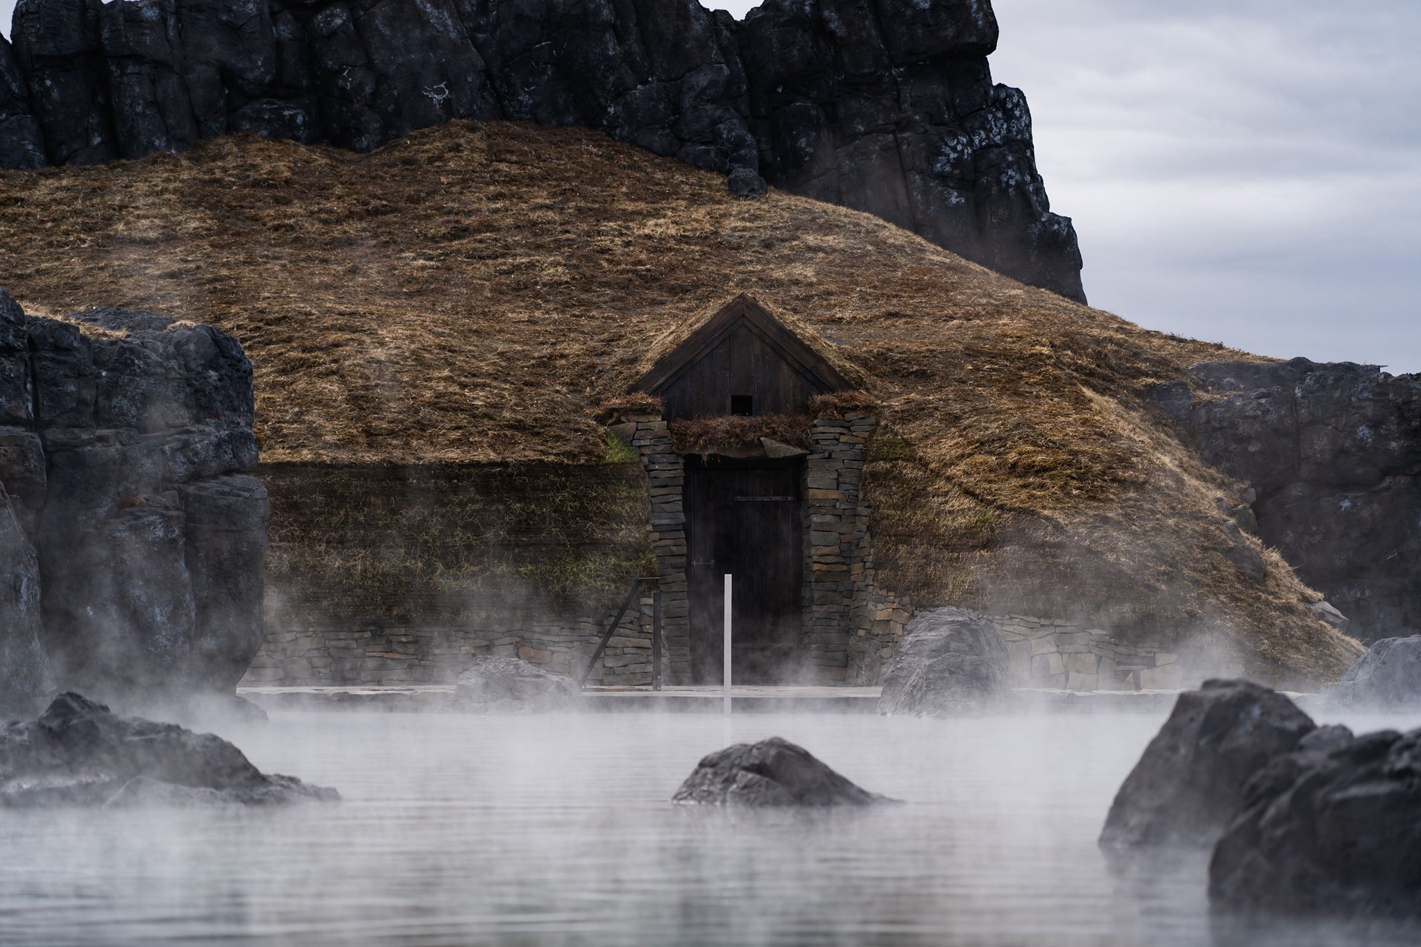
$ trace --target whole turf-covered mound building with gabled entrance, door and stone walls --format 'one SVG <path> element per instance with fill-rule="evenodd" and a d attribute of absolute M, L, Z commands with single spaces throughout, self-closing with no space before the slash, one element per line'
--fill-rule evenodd
<path fill-rule="evenodd" d="M 877 217 L 499 122 L 3 183 L 27 311 L 155 310 L 252 358 L 249 681 L 439 681 L 477 653 L 581 673 L 637 576 L 593 680 L 649 680 L 655 591 L 666 680 L 713 680 L 723 571 L 750 596 L 736 660 L 776 681 L 875 683 L 948 603 L 996 616 L 1034 686 L 1320 680 L 1360 652 L 1151 396 L 1252 356 Z"/>

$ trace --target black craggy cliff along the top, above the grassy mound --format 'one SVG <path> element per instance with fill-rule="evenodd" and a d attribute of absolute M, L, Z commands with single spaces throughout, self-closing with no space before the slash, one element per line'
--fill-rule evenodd
<path fill-rule="evenodd" d="M 229 131 L 371 149 L 453 118 L 581 125 L 921 233 L 1084 300 L 989 0 L 20 0 L 0 166 Z"/>

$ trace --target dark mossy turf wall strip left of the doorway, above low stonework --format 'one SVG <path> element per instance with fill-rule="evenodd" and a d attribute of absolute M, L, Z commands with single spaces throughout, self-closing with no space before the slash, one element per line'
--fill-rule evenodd
<path fill-rule="evenodd" d="M 598 615 L 655 572 L 639 466 L 267 464 L 269 628 Z"/>

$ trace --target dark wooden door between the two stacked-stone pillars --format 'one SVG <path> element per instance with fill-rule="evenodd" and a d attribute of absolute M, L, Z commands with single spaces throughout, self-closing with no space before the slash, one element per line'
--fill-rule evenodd
<path fill-rule="evenodd" d="M 801 461 L 686 457 L 686 551 L 695 681 L 720 683 L 725 574 L 736 683 L 783 683 L 803 622 Z"/>

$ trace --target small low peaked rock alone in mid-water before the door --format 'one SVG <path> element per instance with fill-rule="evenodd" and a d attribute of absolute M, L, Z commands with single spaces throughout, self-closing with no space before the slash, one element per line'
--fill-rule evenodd
<path fill-rule="evenodd" d="M 703 805 L 868 805 L 890 802 L 863 789 L 787 740 L 737 743 L 701 760 L 672 802 Z"/>

